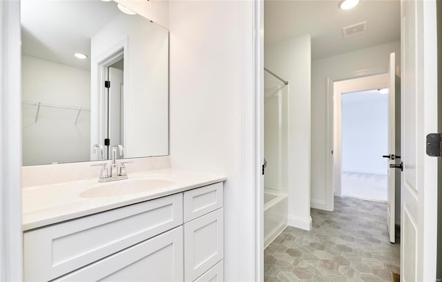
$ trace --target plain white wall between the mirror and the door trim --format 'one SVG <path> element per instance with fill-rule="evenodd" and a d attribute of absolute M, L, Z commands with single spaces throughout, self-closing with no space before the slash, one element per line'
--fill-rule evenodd
<path fill-rule="evenodd" d="M 242 185 L 243 179 L 248 176 L 240 175 L 244 155 L 240 151 L 244 134 L 240 105 L 242 97 L 253 95 L 251 90 L 242 91 L 252 72 L 245 77 L 241 72 L 252 50 L 251 45 L 244 45 L 253 32 L 250 3 L 171 1 L 169 4 L 172 165 L 227 177 L 225 281 L 254 280 L 253 272 L 259 270 L 253 269 L 253 263 L 262 255 L 261 250 L 255 256 L 249 255 L 250 246 L 256 243 L 253 236 L 258 236 L 252 231 L 253 226 L 260 223 L 251 222 L 253 219 L 242 223 L 244 212 L 253 210 L 254 204 L 249 203 L 255 201 L 242 199 L 248 189 Z M 249 25 L 247 30 L 244 25 Z M 253 168 L 252 162 L 248 165 Z"/>

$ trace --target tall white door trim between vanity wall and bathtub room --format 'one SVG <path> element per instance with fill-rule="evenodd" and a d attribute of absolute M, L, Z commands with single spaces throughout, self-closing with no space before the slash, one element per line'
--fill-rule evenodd
<path fill-rule="evenodd" d="M 263 2 L 238 1 L 240 48 L 239 281 L 262 281 L 263 259 Z"/>

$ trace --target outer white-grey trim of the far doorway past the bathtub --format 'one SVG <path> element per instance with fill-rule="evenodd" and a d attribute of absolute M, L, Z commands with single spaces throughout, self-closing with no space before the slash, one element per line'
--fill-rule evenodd
<path fill-rule="evenodd" d="M 369 77 L 376 74 L 385 74 L 387 70 L 383 67 L 365 68 L 361 70 L 354 70 L 352 72 L 345 72 L 334 76 L 329 76 L 325 79 L 325 94 L 326 94 L 326 137 L 325 137 L 325 210 L 334 210 L 334 83 L 348 79 L 357 79 L 361 77 Z"/>

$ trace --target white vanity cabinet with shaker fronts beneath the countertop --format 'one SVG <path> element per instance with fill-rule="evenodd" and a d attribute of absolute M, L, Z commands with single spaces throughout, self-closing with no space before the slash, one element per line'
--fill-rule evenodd
<path fill-rule="evenodd" d="M 25 281 L 222 281 L 222 183 L 23 233 Z"/>

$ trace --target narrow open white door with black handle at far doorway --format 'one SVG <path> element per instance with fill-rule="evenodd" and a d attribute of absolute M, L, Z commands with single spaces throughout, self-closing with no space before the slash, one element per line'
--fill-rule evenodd
<path fill-rule="evenodd" d="M 396 63 L 395 54 L 390 54 L 390 62 L 387 72 L 387 88 L 388 88 L 388 152 L 390 154 L 390 164 L 396 164 Z M 400 160 L 397 160 L 400 161 Z M 396 241 L 395 227 L 395 195 L 396 195 L 396 171 L 394 168 L 388 168 L 387 183 L 387 227 L 390 234 L 390 242 Z"/>

